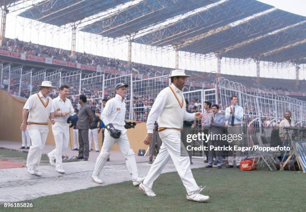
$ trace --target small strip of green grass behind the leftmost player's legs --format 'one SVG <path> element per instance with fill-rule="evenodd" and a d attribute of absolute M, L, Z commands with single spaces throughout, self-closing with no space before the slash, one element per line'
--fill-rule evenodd
<path fill-rule="evenodd" d="M 27 151 L 16 151 L 13 149 L 4 149 L 0 148 L 0 159 L 9 159 L 9 160 L 20 160 L 22 162 L 26 161 Z M 46 154 L 42 154 L 41 163 L 48 162 L 49 159 Z"/>

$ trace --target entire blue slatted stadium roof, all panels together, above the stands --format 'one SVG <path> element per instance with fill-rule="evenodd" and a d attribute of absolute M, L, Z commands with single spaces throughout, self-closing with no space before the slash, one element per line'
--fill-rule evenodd
<path fill-rule="evenodd" d="M 127 1 L 47 0 L 20 15 L 59 26 Z M 132 34 L 137 43 L 193 53 L 304 63 L 305 24 L 304 16 L 256 0 L 141 0 L 80 30 L 113 38 Z"/>

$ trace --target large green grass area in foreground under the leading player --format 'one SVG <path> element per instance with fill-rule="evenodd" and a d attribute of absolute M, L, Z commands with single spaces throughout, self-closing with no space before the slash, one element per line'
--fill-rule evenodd
<path fill-rule="evenodd" d="M 156 197 L 147 197 L 130 181 L 39 197 L 33 208 L 0 211 L 306 211 L 306 175 L 294 171 L 192 170 L 208 202 L 186 200 L 176 172 L 154 182 Z"/>

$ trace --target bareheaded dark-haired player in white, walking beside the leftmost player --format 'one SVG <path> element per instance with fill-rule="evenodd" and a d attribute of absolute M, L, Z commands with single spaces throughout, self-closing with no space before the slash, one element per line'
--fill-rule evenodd
<path fill-rule="evenodd" d="M 62 167 L 61 154 L 62 150 L 68 147 L 69 143 L 69 125 L 67 119 L 74 115 L 74 108 L 69 95 L 69 86 L 62 84 L 59 87 L 59 95 L 52 100 L 51 112 L 54 113 L 55 124 L 52 125 L 52 132 L 55 141 L 55 148 L 47 155 L 51 165 L 55 165 L 55 170 L 59 173 L 65 173 Z M 54 163 L 55 159 L 55 163 Z"/>

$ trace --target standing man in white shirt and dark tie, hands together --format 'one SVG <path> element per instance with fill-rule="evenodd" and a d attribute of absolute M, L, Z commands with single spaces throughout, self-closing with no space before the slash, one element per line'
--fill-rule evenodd
<path fill-rule="evenodd" d="M 227 134 L 241 134 L 242 133 L 242 123 L 243 123 L 243 108 L 237 105 L 238 97 L 236 95 L 232 95 L 230 97 L 231 105 L 225 108 L 225 120 L 227 121 Z M 235 144 L 238 141 L 233 141 Z M 235 152 L 235 158 L 233 157 L 233 153 Z M 233 167 L 233 162 L 235 160 L 236 167 L 240 168 L 240 151 L 228 151 L 228 164 L 227 168 Z"/>

